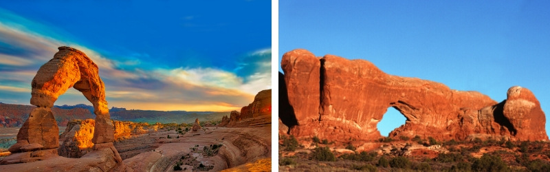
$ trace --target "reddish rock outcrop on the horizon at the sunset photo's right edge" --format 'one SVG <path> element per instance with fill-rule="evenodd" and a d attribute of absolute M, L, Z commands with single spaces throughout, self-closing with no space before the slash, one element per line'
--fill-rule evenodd
<path fill-rule="evenodd" d="M 241 111 L 231 111 L 230 117 L 223 116 L 219 127 L 252 127 L 271 124 L 271 89 L 265 89 L 254 96 L 254 101 Z"/>

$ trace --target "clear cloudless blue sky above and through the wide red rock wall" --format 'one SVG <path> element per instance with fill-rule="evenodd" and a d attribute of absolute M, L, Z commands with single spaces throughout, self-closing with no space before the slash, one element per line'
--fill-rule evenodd
<path fill-rule="evenodd" d="M 361 58 L 387 74 L 478 91 L 498 102 L 520 85 L 549 114 L 548 9 L 549 1 L 280 1 L 279 62 L 297 48 Z M 388 113 L 378 125 L 384 136 L 405 121 Z"/>

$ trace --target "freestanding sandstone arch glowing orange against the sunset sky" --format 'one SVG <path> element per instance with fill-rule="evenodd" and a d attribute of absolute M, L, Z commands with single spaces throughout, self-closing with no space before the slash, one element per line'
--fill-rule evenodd
<path fill-rule="evenodd" d="M 12 155 L 4 158 L 0 164 L 58 157 L 59 129 L 52 114 L 52 107 L 58 96 L 74 87 L 94 105 L 96 114 L 94 135 L 91 138 L 94 147 L 85 157 L 101 157 L 102 161 L 100 164 L 94 164 L 95 168 L 109 170 L 120 164 L 122 158 L 113 146 L 113 123 L 105 100 L 104 84 L 98 74 L 98 66 L 86 54 L 72 47 L 58 47 L 58 50 L 54 58 L 42 65 L 32 79 L 30 104 L 36 108 L 17 133 L 17 143 L 8 149 Z"/>

